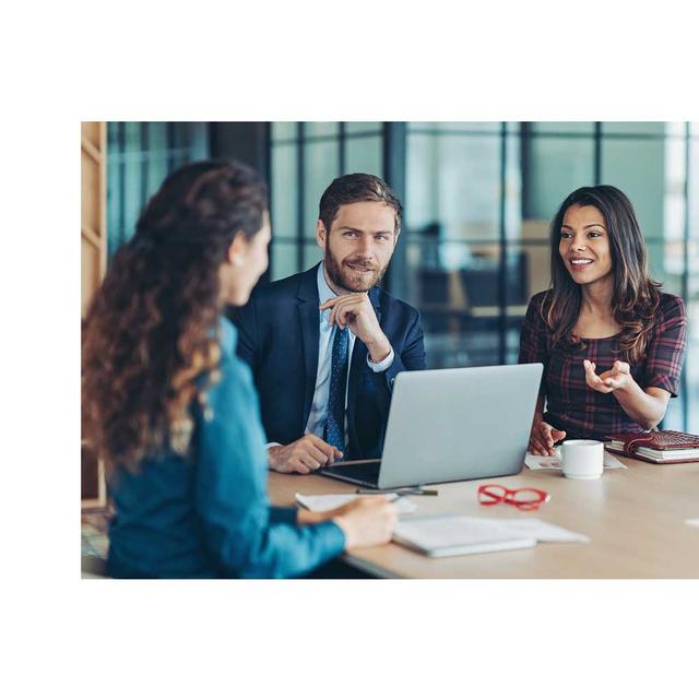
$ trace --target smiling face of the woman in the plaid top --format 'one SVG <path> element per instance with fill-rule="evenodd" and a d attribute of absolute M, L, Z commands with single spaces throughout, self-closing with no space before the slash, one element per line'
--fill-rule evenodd
<path fill-rule="evenodd" d="M 566 211 L 558 252 L 576 284 L 592 284 L 612 274 L 609 233 L 596 206 L 574 204 Z"/>

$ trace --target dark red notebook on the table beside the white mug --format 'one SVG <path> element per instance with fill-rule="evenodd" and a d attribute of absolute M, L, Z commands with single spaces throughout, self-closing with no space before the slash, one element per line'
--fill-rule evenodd
<path fill-rule="evenodd" d="M 699 436 L 672 429 L 607 435 L 606 448 L 651 463 L 699 461 Z"/>

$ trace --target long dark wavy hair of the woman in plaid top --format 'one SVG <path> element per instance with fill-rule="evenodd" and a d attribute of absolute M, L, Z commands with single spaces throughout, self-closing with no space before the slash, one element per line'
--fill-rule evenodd
<path fill-rule="evenodd" d="M 580 315 L 581 289 L 558 252 L 560 228 L 570 206 L 596 206 L 606 223 L 612 250 L 614 295 L 612 311 L 621 327 L 619 355 L 630 364 L 641 360 L 660 305 L 661 285 L 649 276 L 645 241 L 633 206 L 616 187 L 581 187 L 560 205 L 550 226 L 552 288 L 546 293 L 542 317 L 552 329 L 553 344 L 581 347 L 572 333 Z"/>

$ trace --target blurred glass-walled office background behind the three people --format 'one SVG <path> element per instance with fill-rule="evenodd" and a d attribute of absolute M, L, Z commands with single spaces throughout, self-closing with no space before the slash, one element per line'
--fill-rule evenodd
<path fill-rule="evenodd" d="M 405 208 L 384 285 L 422 310 L 430 368 L 516 363 L 528 300 L 548 286 L 560 201 L 619 187 L 653 276 L 689 311 L 682 393 L 663 427 L 699 433 L 699 122 L 110 122 L 107 264 L 163 178 L 204 157 L 237 157 L 269 181 L 268 281 L 321 259 L 318 202 L 334 177 L 384 177 Z"/>

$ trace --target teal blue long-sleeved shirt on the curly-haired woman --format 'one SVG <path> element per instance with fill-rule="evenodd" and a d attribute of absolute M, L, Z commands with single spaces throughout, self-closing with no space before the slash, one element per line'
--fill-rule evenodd
<path fill-rule="evenodd" d="M 333 522 L 299 526 L 295 508 L 271 507 L 265 436 L 237 332 L 221 321 L 221 381 L 208 411 L 193 408 L 192 458 L 147 459 L 110 483 L 116 517 L 107 570 L 116 578 L 285 578 L 344 549 Z"/>

